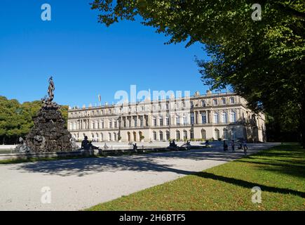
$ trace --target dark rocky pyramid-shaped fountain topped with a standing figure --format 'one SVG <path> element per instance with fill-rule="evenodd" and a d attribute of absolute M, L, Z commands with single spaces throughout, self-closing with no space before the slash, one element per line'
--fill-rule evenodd
<path fill-rule="evenodd" d="M 65 128 L 65 120 L 60 113 L 60 105 L 53 102 L 55 85 L 53 77 L 49 79 L 48 98 L 41 99 L 42 107 L 34 120 L 34 127 L 27 134 L 20 152 L 28 150 L 34 153 L 72 151 L 72 135 Z M 27 148 L 25 148 L 25 146 Z M 16 149 L 18 150 L 18 149 Z"/>

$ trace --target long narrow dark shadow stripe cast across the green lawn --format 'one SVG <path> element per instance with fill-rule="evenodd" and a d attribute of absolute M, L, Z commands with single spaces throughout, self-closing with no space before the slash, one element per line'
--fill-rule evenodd
<path fill-rule="evenodd" d="M 294 190 L 287 189 L 287 188 L 275 188 L 275 187 L 266 186 L 266 185 L 262 185 L 262 184 L 255 184 L 255 183 L 252 183 L 249 181 L 243 181 L 243 180 L 235 179 L 235 178 L 231 178 L 231 177 L 210 174 L 208 172 L 200 172 L 200 173 L 197 173 L 196 176 L 200 176 L 205 179 L 212 179 L 215 181 L 222 181 L 222 182 L 225 182 L 228 184 L 241 186 L 243 188 L 249 188 L 250 190 L 252 188 L 254 188 L 255 186 L 259 186 L 260 188 L 262 188 L 262 191 L 268 191 L 268 192 L 273 192 L 273 193 L 282 193 L 282 194 L 292 194 L 292 195 L 297 195 L 301 198 L 305 198 L 305 193 L 301 192 L 301 191 L 294 191 Z"/>

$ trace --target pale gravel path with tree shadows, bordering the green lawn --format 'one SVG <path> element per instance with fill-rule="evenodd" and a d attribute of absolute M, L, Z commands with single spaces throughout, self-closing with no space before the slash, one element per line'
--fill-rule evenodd
<path fill-rule="evenodd" d="M 249 145 L 250 153 L 274 145 Z M 224 153 L 216 146 L 211 150 L 0 165 L 0 210 L 83 210 L 242 156 L 240 150 Z M 42 196 L 51 202 L 43 204 Z"/>

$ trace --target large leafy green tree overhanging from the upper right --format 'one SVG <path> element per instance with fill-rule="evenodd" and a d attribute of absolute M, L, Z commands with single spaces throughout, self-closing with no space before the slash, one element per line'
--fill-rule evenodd
<path fill-rule="evenodd" d="M 201 42 L 210 56 L 197 60 L 203 82 L 231 86 L 252 110 L 285 120 L 305 147 L 305 3 L 258 2 L 262 20 L 252 20 L 246 0 L 95 0 L 91 6 L 107 26 L 140 15 L 143 25 L 170 37 L 168 44 Z"/>

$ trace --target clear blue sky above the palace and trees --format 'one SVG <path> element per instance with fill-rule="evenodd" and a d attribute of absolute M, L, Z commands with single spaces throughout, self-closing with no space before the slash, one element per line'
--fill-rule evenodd
<path fill-rule="evenodd" d="M 164 45 L 168 37 L 151 27 L 123 21 L 97 23 L 93 0 L 0 1 L 0 95 L 34 101 L 55 80 L 55 101 L 88 105 L 114 101 L 118 90 L 196 90 L 207 87 L 194 62 L 206 58 L 201 45 Z M 52 6 L 52 21 L 41 20 L 41 5 Z"/>

